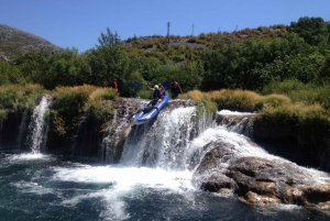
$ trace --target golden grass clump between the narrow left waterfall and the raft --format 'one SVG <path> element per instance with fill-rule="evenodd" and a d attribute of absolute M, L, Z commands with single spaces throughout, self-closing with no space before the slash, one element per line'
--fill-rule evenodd
<path fill-rule="evenodd" d="M 100 123 L 109 121 L 113 115 L 113 107 L 109 100 L 117 97 L 118 92 L 112 88 L 90 85 L 55 88 L 51 107 L 55 131 L 61 136 L 70 137 L 86 111 Z"/>

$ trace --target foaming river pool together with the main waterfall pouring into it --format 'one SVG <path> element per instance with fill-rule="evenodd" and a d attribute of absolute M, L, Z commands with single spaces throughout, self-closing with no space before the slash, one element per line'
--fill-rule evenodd
<path fill-rule="evenodd" d="M 195 125 L 211 124 L 191 121 L 195 111 L 164 109 L 155 121 L 132 128 L 118 165 L 50 155 L 2 156 L 0 220 L 329 220 L 297 206 L 258 208 L 233 195 L 199 191 L 193 173 L 217 141 L 229 144 L 232 154 L 226 157 L 282 159 L 226 126 L 196 133 Z M 228 163 L 219 161 L 222 168 Z M 321 177 L 317 172 L 314 176 Z"/>

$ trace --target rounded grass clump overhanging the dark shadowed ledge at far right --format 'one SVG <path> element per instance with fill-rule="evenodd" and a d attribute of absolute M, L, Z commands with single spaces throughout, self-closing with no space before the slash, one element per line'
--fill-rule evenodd
<path fill-rule="evenodd" d="M 306 154 L 316 156 L 329 135 L 329 114 L 319 104 L 296 103 L 262 112 L 254 120 L 260 136 L 293 137 Z"/>

